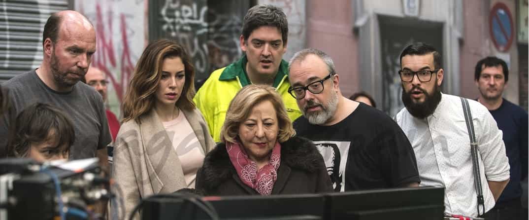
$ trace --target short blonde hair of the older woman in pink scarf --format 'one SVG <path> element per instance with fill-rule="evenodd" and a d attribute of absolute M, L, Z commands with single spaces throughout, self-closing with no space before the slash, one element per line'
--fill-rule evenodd
<path fill-rule="evenodd" d="M 239 127 L 249 116 L 252 108 L 262 101 L 270 101 L 276 110 L 279 121 L 279 134 L 277 140 L 282 143 L 296 135 L 290 118 L 288 118 L 285 104 L 281 96 L 272 86 L 247 85 L 244 86 L 232 99 L 226 112 L 226 119 L 221 129 L 221 142 L 235 143 L 238 141 Z"/>

